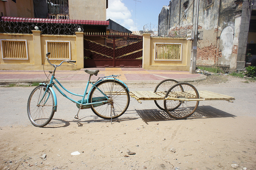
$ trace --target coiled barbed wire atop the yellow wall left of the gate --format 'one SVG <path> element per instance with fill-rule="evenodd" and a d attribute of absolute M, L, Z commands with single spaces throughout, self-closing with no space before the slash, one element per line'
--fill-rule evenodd
<path fill-rule="evenodd" d="M 9 22 L 0 20 L 0 32 L 32 34 L 32 30 L 38 30 L 42 34 L 74 35 L 78 28 L 84 31 L 82 24 L 62 24 L 62 23 L 33 23 L 33 22 Z"/>

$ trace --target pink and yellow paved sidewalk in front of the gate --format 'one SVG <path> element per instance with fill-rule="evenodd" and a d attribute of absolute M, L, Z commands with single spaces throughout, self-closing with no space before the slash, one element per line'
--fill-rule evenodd
<path fill-rule="evenodd" d="M 166 70 L 145 70 L 143 68 L 83 68 L 76 71 L 56 71 L 55 77 L 62 83 L 87 82 L 89 74 L 84 70 L 100 70 L 98 76 L 92 76 L 92 80 L 98 77 L 121 74 L 118 78 L 124 82 L 160 82 L 161 80 L 172 78 L 180 82 L 198 81 L 206 78 L 202 74 L 190 74 L 187 71 L 166 71 Z M 45 72 L 49 75 L 48 70 Z M 0 70 L 0 84 L 10 84 L 18 82 L 42 82 L 46 81 L 44 71 L 20 71 L 20 70 Z M 50 77 L 49 77 L 50 78 Z"/>

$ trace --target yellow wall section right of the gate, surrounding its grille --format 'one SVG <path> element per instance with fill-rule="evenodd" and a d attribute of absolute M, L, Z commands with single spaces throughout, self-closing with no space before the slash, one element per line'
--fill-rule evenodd
<path fill-rule="evenodd" d="M 191 42 L 186 38 L 150 37 L 151 34 L 143 34 L 143 60 L 142 67 L 146 70 L 182 70 L 189 71 Z M 182 43 L 181 61 L 155 61 L 156 43 Z"/>

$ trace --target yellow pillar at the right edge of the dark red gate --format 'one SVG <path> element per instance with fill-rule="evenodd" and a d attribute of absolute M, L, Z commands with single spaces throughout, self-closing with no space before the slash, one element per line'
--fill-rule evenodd
<path fill-rule="evenodd" d="M 143 34 L 142 68 L 144 69 L 150 66 L 150 36 L 149 33 Z"/>

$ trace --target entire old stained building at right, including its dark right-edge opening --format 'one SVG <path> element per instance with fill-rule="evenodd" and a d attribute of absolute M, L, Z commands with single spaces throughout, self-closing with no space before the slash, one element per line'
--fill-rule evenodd
<path fill-rule="evenodd" d="M 197 65 L 243 69 L 256 55 L 256 0 L 200 0 Z M 194 0 L 171 0 L 158 16 L 158 36 L 186 37 L 192 30 Z"/>

